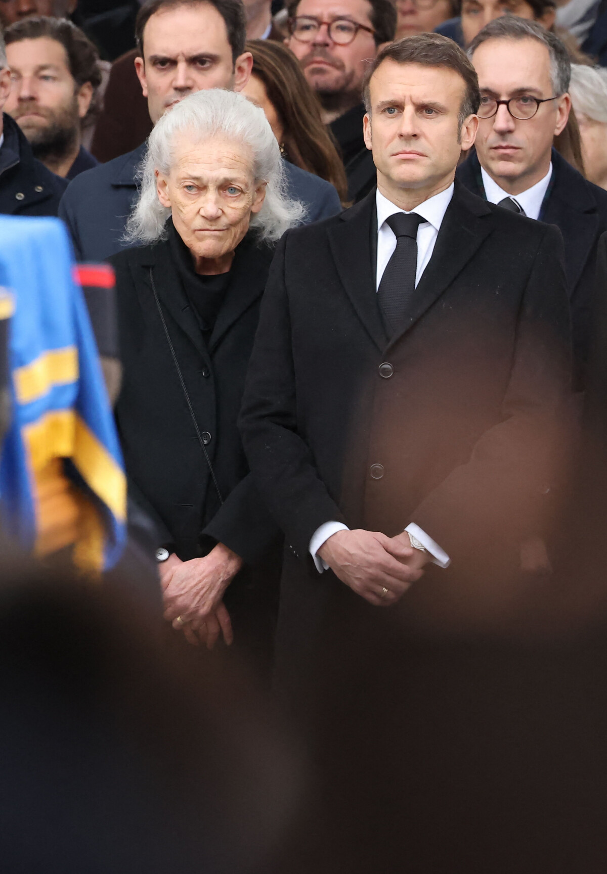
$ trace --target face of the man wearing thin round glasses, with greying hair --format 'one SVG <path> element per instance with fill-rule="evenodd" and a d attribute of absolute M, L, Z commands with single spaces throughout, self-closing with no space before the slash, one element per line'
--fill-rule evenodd
<path fill-rule="evenodd" d="M 550 56 L 536 39 L 488 39 L 472 56 L 482 96 L 554 97 Z M 541 103 L 533 118 L 513 118 L 500 106 L 492 118 L 478 122 L 478 160 L 489 175 L 512 194 L 527 191 L 548 173 L 553 137 L 567 124 L 569 94 Z M 481 109 L 482 112 L 482 109 Z M 517 191 L 514 191 L 513 185 Z"/>

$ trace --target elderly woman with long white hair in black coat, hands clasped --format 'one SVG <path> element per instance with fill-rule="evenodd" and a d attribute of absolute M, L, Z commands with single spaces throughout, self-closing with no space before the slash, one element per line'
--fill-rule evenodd
<path fill-rule="evenodd" d="M 129 494 L 155 523 L 165 618 L 209 648 L 231 642 L 231 615 L 236 637 L 267 617 L 261 567 L 278 533 L 236 418 L 273 246 L 303 213 L 263 110 L 200 91 L 150 134 L 127 225 L 143 245 L 111 259 Z"/>

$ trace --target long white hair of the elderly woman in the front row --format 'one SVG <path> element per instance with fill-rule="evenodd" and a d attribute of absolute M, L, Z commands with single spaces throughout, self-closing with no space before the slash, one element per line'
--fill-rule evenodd
<path fill-rule="evenodd" d="M 288 228 L 302 221 L 305 207 L 288 196 L 283 158 L 263 109 L 254 106 L 244 94 L 211 88 L 185 97 L 152 130 L 147 154 L 138 170 L 141 191 L 124 239 L 138 243 L 165 239 L 164 225 L 171 210 L 158 200 L 155 171 L 170 173 L 171 147 L 175 135 L 182 133 L 193 135 L 199 142 L 221 135 L 251 149 L 255 183 L 266 183 L 262 209 L 251 216 L 250 224 L 261 239 L 280 239 Z"/>

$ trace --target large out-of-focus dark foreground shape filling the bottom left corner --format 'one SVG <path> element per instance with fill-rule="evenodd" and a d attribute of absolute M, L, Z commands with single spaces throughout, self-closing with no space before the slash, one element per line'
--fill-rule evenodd
<path fill-rule="evenodd" d="M 123 591 L 4 553 L 0 698 L 4 874 L 264 870 L 297 792 L 283 739 Z"/>

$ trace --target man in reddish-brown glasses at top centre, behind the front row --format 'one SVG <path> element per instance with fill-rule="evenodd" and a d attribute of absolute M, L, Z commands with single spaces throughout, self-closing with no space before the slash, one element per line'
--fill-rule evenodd
<path fill-rule="evenodd" d="M 375 184 L 373 156 L 366 149 L 362 82 L 382 43 L 392 42 L 392 0 L 291 0 L 290 50 L 323 107 L 324 123 L 338 142 L 353 201 Z"/>

